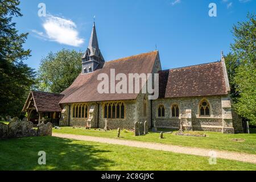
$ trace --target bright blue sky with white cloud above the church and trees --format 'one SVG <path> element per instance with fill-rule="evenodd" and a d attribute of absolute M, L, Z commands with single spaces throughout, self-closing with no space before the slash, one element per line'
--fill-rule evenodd
<path fill-rule="evenodd" d="M 210 3 L 217 16 L 209 16 Z M 23 16 L 13 20 L 29 33 L 24 63 L 35 70 L 51 51 L 84 52 L 94 17 L 106 61 L 158 49 L 162 69 L 171 69 L 220 60 L 230 51 L 233 25 L 255 7 L 256 0 L 22 0 Z"/>

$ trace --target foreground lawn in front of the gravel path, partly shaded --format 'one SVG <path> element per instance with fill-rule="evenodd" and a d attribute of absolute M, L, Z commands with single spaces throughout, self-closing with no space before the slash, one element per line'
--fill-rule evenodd
<path fill-rule="evenodd" d="M 256 170 L 255 164 L 56 137 L 0 140 L 0 170 Z M 46 152 L 46 165 L 38 152 Z"/>

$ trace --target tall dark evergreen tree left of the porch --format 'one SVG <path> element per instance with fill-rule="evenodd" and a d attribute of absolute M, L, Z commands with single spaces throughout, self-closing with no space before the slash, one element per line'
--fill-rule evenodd
<path fill-rule="evenodd" d="M 30 49 L 23 44 L 28 34 L 18 34 L 14 16 L 22 16 L 19 0 L 0 1 L 0 115 L 19 116 L 34 84 L 35 72 L 23 63 Z"/>

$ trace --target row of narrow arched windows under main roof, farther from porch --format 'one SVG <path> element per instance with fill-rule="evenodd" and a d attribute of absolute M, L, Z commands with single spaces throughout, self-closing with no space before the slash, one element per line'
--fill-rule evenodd
<path fill-rule="evenodd" d="M 125 105 L 123 102 L 106 102 L 103 105 L 103 116 L 108 119 L 124 119 Z"/>

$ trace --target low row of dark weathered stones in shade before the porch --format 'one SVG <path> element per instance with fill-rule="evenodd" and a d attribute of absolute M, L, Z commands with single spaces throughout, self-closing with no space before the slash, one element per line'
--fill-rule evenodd
<path fill-rule="evenodd" d="M 51 136 L 52 123 L 40 123 L 38 130 L 33 129 L 33 123 L 28 121 L 14 121 L 8 125 L 0 123 L 0 139 L 18 137 Z"/>

